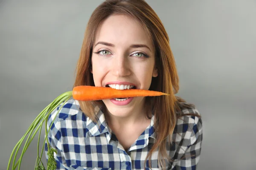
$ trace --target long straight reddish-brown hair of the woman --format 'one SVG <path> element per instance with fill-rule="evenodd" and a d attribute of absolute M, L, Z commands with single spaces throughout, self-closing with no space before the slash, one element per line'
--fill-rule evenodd
<path fill-rule="evenodd" d="M 138 20 L 154 45 L 156 66 L 159 73 L 157 77 L 152 77 L 149 90 L 161 91 L 170 94 L 170 96 L 146 97 L 147 113 L 152 111 L 155 116 L 154 127 L 157 134 L 156 141 L 151 147 L 147 159 L 149 159 L 149 166 L 151 166 L 151 155 L 155 150 L 159 149 L 158 163 L 164 168 L 164 159 L 168 159 L 166 140 L 169 140 L 170 143 L 172 142 L 170 136 L 173 134 L 177 121 L 177 111 L 179 110 L 177 102 L 183 100 L 175 97 L 179 90 L 179 79 L 175 59 L 169 45 L 168 34 L 160 18 L 144 0 L 106 0 L 93 11 L 84 34 L 81 54 L 76 68 L 74 87 L 78 85 L 95 86 L 90 68 L 96 28 L 99 28 L 102 21 L 112 14 L 125 14 Z M 152 105 L 153 103 L 154 105 Z M 79 101 L 79 105 L 86 116 L 96 121 L 94 108 L 96 105 L 103 105 L 103 102 Z"/>

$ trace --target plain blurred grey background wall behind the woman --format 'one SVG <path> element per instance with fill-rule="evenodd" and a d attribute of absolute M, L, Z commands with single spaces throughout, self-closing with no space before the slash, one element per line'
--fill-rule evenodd
<path fill-rule="evenodd" d="M 35 117 L 72 90 L 84 30 L 100 2 L 0 0 L 0 170 Z M 198 170 L 255 169 L 256 1 L 147 2 L 168 31 L 178 95 L 203 116 Z M 35 165 L 34 140 L 22 170 Z"/>

